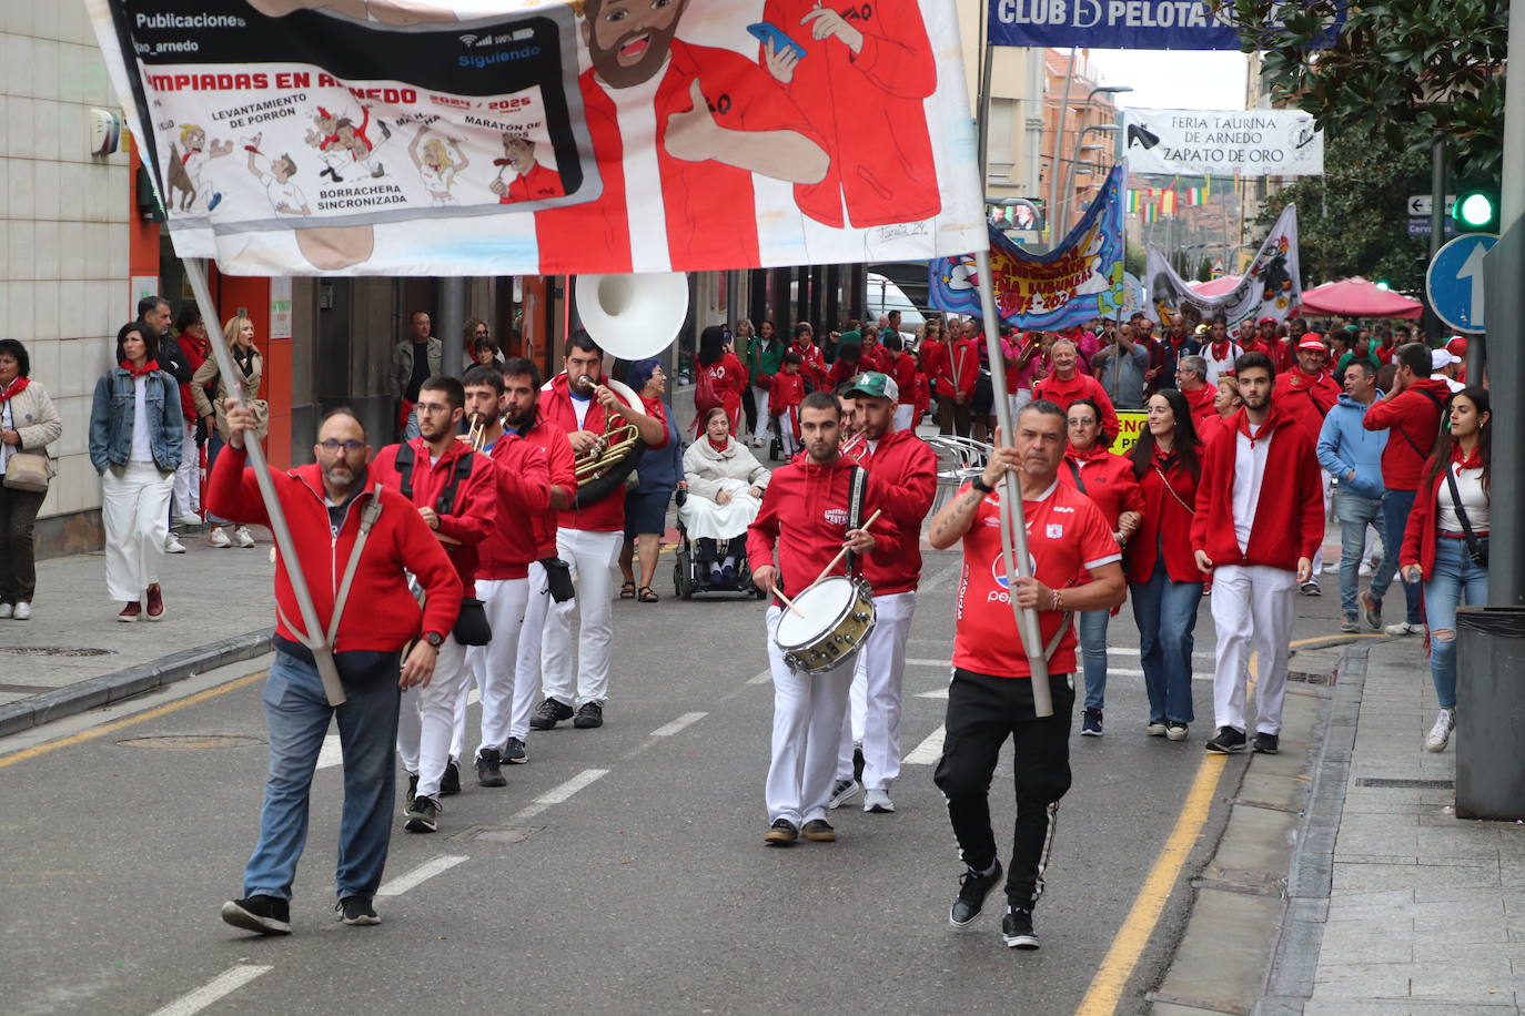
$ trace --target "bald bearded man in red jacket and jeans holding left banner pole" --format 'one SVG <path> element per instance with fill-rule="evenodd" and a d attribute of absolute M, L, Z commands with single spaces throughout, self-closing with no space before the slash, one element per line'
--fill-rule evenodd
<path fill-rule="evenodd" d="M 244 468 L 244 436 L 255 411 L 227 410 L 229 443 L 217 457 L 207 509 L 239 522 L 270 524 L 252 469 Z M 302 611 L 291 589 L 285 554 L 276 561 L 274 663 L 265 679 L 270 775 L 259 815 L 259 844 L 244 868 L 244 896 L 223 905 L 223 920 L 262 935 L 291 932 L 291 882 L 308 829 L 313 772 L 328 725 L 337 722 L 343 748 L 345 809 L 339 826 L 339 912 L 346 925 L 378 925 L 371 905 L 386 868 L 396 797 L 392 745 L 396 740 L 398 689 L 429 684 L 439 646 L 461 609 L 461 577 L 418 510 L 366 471 L 371 445 L 349 410 L 323 417 L 313 445 L 316 465 L 270 471 L 276 500 L 291 530 L 296 559 L 322 631 L 297 628 Z M 349 597 L 336 617 L 336 591 L 366 532 Z M 407 576 L 418 577 L 419 608 Z M 325 632 L 345 690 L 329 705 L 313 650 Z M 418 640 L 401 661 L 403 646 Z"/>

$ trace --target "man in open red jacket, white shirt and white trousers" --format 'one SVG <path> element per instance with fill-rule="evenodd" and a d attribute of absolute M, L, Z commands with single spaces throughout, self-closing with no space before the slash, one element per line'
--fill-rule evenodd
<path fill-rule="evenodd" d="M 1244 408 L 1202 454 L 1191 545 L 1212 576 L 1218 632 L 1212 711 L 1218 733 L 1208 751 L 1246 743 L 1244 690 L 1250 649 L 1260 650 L 1255 751 L 1276 754 L 1287 692 L 1295 585 L 1313 576 L 1324 542 L 1324 497 L 1313 440 L 1272 402 L 1272 363 L 1244 353 L 1234 363 Z"/>

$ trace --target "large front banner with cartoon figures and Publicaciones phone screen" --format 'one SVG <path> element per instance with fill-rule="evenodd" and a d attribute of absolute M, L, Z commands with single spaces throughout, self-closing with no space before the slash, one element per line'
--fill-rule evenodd
<path fill-rule="evenodd" d="M 953 0 L 88 0 L 183 257 L 697 271 L 984 247 Z"/>

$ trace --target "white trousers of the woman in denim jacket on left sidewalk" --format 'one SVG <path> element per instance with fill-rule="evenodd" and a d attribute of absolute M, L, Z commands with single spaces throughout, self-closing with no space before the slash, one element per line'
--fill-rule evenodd
<path fill-rule="evenodd" d="M 172 474 L 151 462 L 133 462 L 122 475 L 107 468 L 101 477 L 101 518 L 105 524 L 105 588 L 113 600 L 131 603 L 159 582 L 169 535 Z"/>

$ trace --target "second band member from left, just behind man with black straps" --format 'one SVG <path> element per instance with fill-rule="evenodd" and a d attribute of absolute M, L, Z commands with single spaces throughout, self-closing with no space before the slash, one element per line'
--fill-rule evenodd
<path fill-rule="evenodd" d="M 529 603 L 529 564 L 535 559 L 535 533 L 529 519 L 551 506 L 546 452 L 518 434 L 503 430 L 503 375 L 496 367 L 467 372 L 467 417 L 473 420 L 476 446 L 497 468 L 497 526 L 477 547 L 477 599 L 486 608 L 493 641 L 467 649 L 467 669 L 482 696 L 482 743 L 476 749 L 477 783 L 508 786 L 503 754 L 508 751 L 517 695 L 518 635 Z M 468 442 L 470 443 L 470 442 Z M 456 699 L 456 731 L 451 756 L 464 757 L 467 696 Z M 523 742 L 523 733 L 520 733 Z"/>

